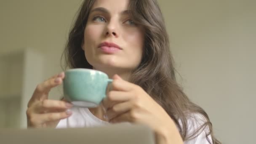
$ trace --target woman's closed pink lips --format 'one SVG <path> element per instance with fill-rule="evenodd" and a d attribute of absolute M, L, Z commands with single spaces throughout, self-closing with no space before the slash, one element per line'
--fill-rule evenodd
<path fill-rule="evenodd" d="M 120 46 L 118 46 L 117 44 L 108 43 L 108 42 L 101 43 L 98 46 L 98 48 L 100 48 L 101 51 L 103 51 L 104 53 L 107 53 L 107 54 L 113 54 L 113 53 L 116 53 L 117 51 L 122 50 L 122 48 L 120 48 Z"/>

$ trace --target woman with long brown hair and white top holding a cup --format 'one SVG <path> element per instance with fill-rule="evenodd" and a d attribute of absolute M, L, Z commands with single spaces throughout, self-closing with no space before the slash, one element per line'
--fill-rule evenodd
<path fill-rule="evenodd" d="M 71 108 L 48 99 L 65 77 L 55 75 L 35 89 L 27 109 L 29 127 L 143 123 L 155 131 L 158 144 L 220 144 L 208 115 L 176 82 L 156 0 L 85 0 L 64 53 L 67 67 L 112 77 L 111 91 L 99 107 Z"/>

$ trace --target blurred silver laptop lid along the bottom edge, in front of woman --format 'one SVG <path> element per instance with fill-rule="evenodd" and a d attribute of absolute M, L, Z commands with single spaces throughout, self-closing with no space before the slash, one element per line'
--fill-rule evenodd
<path fill-rule="evenodd" d="M 144 125 L 106 125 L 89 128 L 1 129 L 1 144 L 155 144 Z"/>

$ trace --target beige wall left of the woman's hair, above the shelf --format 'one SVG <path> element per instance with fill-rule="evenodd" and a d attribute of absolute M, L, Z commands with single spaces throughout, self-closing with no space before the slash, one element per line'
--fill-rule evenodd
<path fill-rule="evenodd" d="M 44 79 L 61 72 L 60 58 L 81 0 L 0 1 L 0 54 L 23 48 L 43 53 Z M 61 87 L 51 92 L 61 95 Z"/>

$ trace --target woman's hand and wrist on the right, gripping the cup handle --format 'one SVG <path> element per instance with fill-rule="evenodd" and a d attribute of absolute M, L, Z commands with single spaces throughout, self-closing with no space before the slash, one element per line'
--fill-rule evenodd
<path fill-rule="evenodd" d="M 173 136 L 173 140 L 180 139 L 182 142 L 179 131 L 167 112 L 140 86 L 122 80 L 118 75 L 113 77 L 112 89 L 102 104 L 110 123 L 146 124 L 155 131 L 158 144 L 168 143 Z"/>

